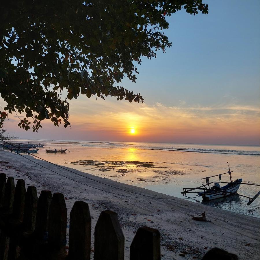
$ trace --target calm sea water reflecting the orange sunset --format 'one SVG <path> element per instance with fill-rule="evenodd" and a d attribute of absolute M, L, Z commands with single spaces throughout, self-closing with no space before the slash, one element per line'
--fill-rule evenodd
<path fill-rule="evenodd" d="M 183 198 L 183 187 L 202 185 L 201 178 L 233 171 L 233 180 L 260 183 L 260 147 L 140 142 L 72 140 L 21 140 L 45 144 L 36 155 L 50 162 L 100 177 Z M 45 149 L 67 149 L 48 154 Z M 73 176 L 72 176 L 73 177 Z M 219 181 L 218 177 L 210 181 Z M 228 174 L 221 181 L 228 182 Z M 246 183 L 246 182 L 245 182 Z M 221 184 L 226 185 L 226 184 Z M 259 186 L 241 185 L 238 193 L 253 197 Z M 190 197 L 196 194 L 190 194 Z M 190 199 L 204 203 L 201 198 Z M 249 206 L 248 198 L 231 195 L 207 205 L 260 218 L 260 196 Z"/>

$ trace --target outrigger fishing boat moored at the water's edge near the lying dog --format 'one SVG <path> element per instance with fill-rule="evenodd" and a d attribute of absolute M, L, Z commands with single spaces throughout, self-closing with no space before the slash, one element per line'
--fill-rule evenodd
<path fill-rule="evenodd" d="M 196 188 L 183 188 L 183 192 L 181 192 L 181 194 L 185 196 L 187 193 L 198 193 L 199 196 L 202 196 L 204 201 L 209 201 L 217 198 L 226 197 L 232 194 L 237 194 L 236 192 L 238 191 L 241 184 L 260 186 L 254 183 L 242 183 L 243 179 L 236 179 L 235 181 L 233 181 L 231 172 L 233 171 L 230 171 L 229 168 L 228 172 L 202 178 L 202 180 L 206 179 L 206 185 L 203 184 L 202 186 Z M 219 176 L 219 180 L 221 180 L 222 175 L 227 173 L 229 174 L 230 182 L 209 182 L 209 178 Z M 214 186 L 210 187 L 209 185 L 212 183 L 214 183 Z M 219 183 L 225 183 L 226 185 L 220 187 Z M 203 191 L 194 191 L 194 190 L 203 190 Z M 250 205 L 260 195 L 260 191 L 253 198 L 241 194 L 237 194 L 237 195 L 249 198 L 249 202 L 246 205 Z"/>

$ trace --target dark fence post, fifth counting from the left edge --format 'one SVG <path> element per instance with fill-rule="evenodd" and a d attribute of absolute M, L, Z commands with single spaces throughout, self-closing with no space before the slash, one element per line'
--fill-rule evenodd
<path fill-rule="evenodd" d="M 37 203 L 35 234 L 40 240 L 47 240 L 51 191 L 42 190 Z"/>

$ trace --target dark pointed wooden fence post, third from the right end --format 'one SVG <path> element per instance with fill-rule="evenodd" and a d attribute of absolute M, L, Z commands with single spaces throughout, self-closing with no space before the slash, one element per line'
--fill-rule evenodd
<path fill-rule="evenodd" d="M 117 214 L 102 211 L 95 226 L 94 259 L 123 260 L 125 237 Z"/>

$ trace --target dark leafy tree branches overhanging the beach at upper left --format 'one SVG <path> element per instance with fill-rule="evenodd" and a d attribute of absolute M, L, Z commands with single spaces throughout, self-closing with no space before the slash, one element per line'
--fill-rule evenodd
<path fill-rule="evenodd" d="M 120 85 L 135 82 L 136 64 L 171 43 L 166 16 L 208 13 L 202 0 L 9 0 L 0 6 L 0 92 L 8 113 L 26 114 L 20 128 L 50 119 L 70 126 L 70 99 L 115 96 L 143 102 Z M 63 95 L 66 98 L 63 98 Z"/>

